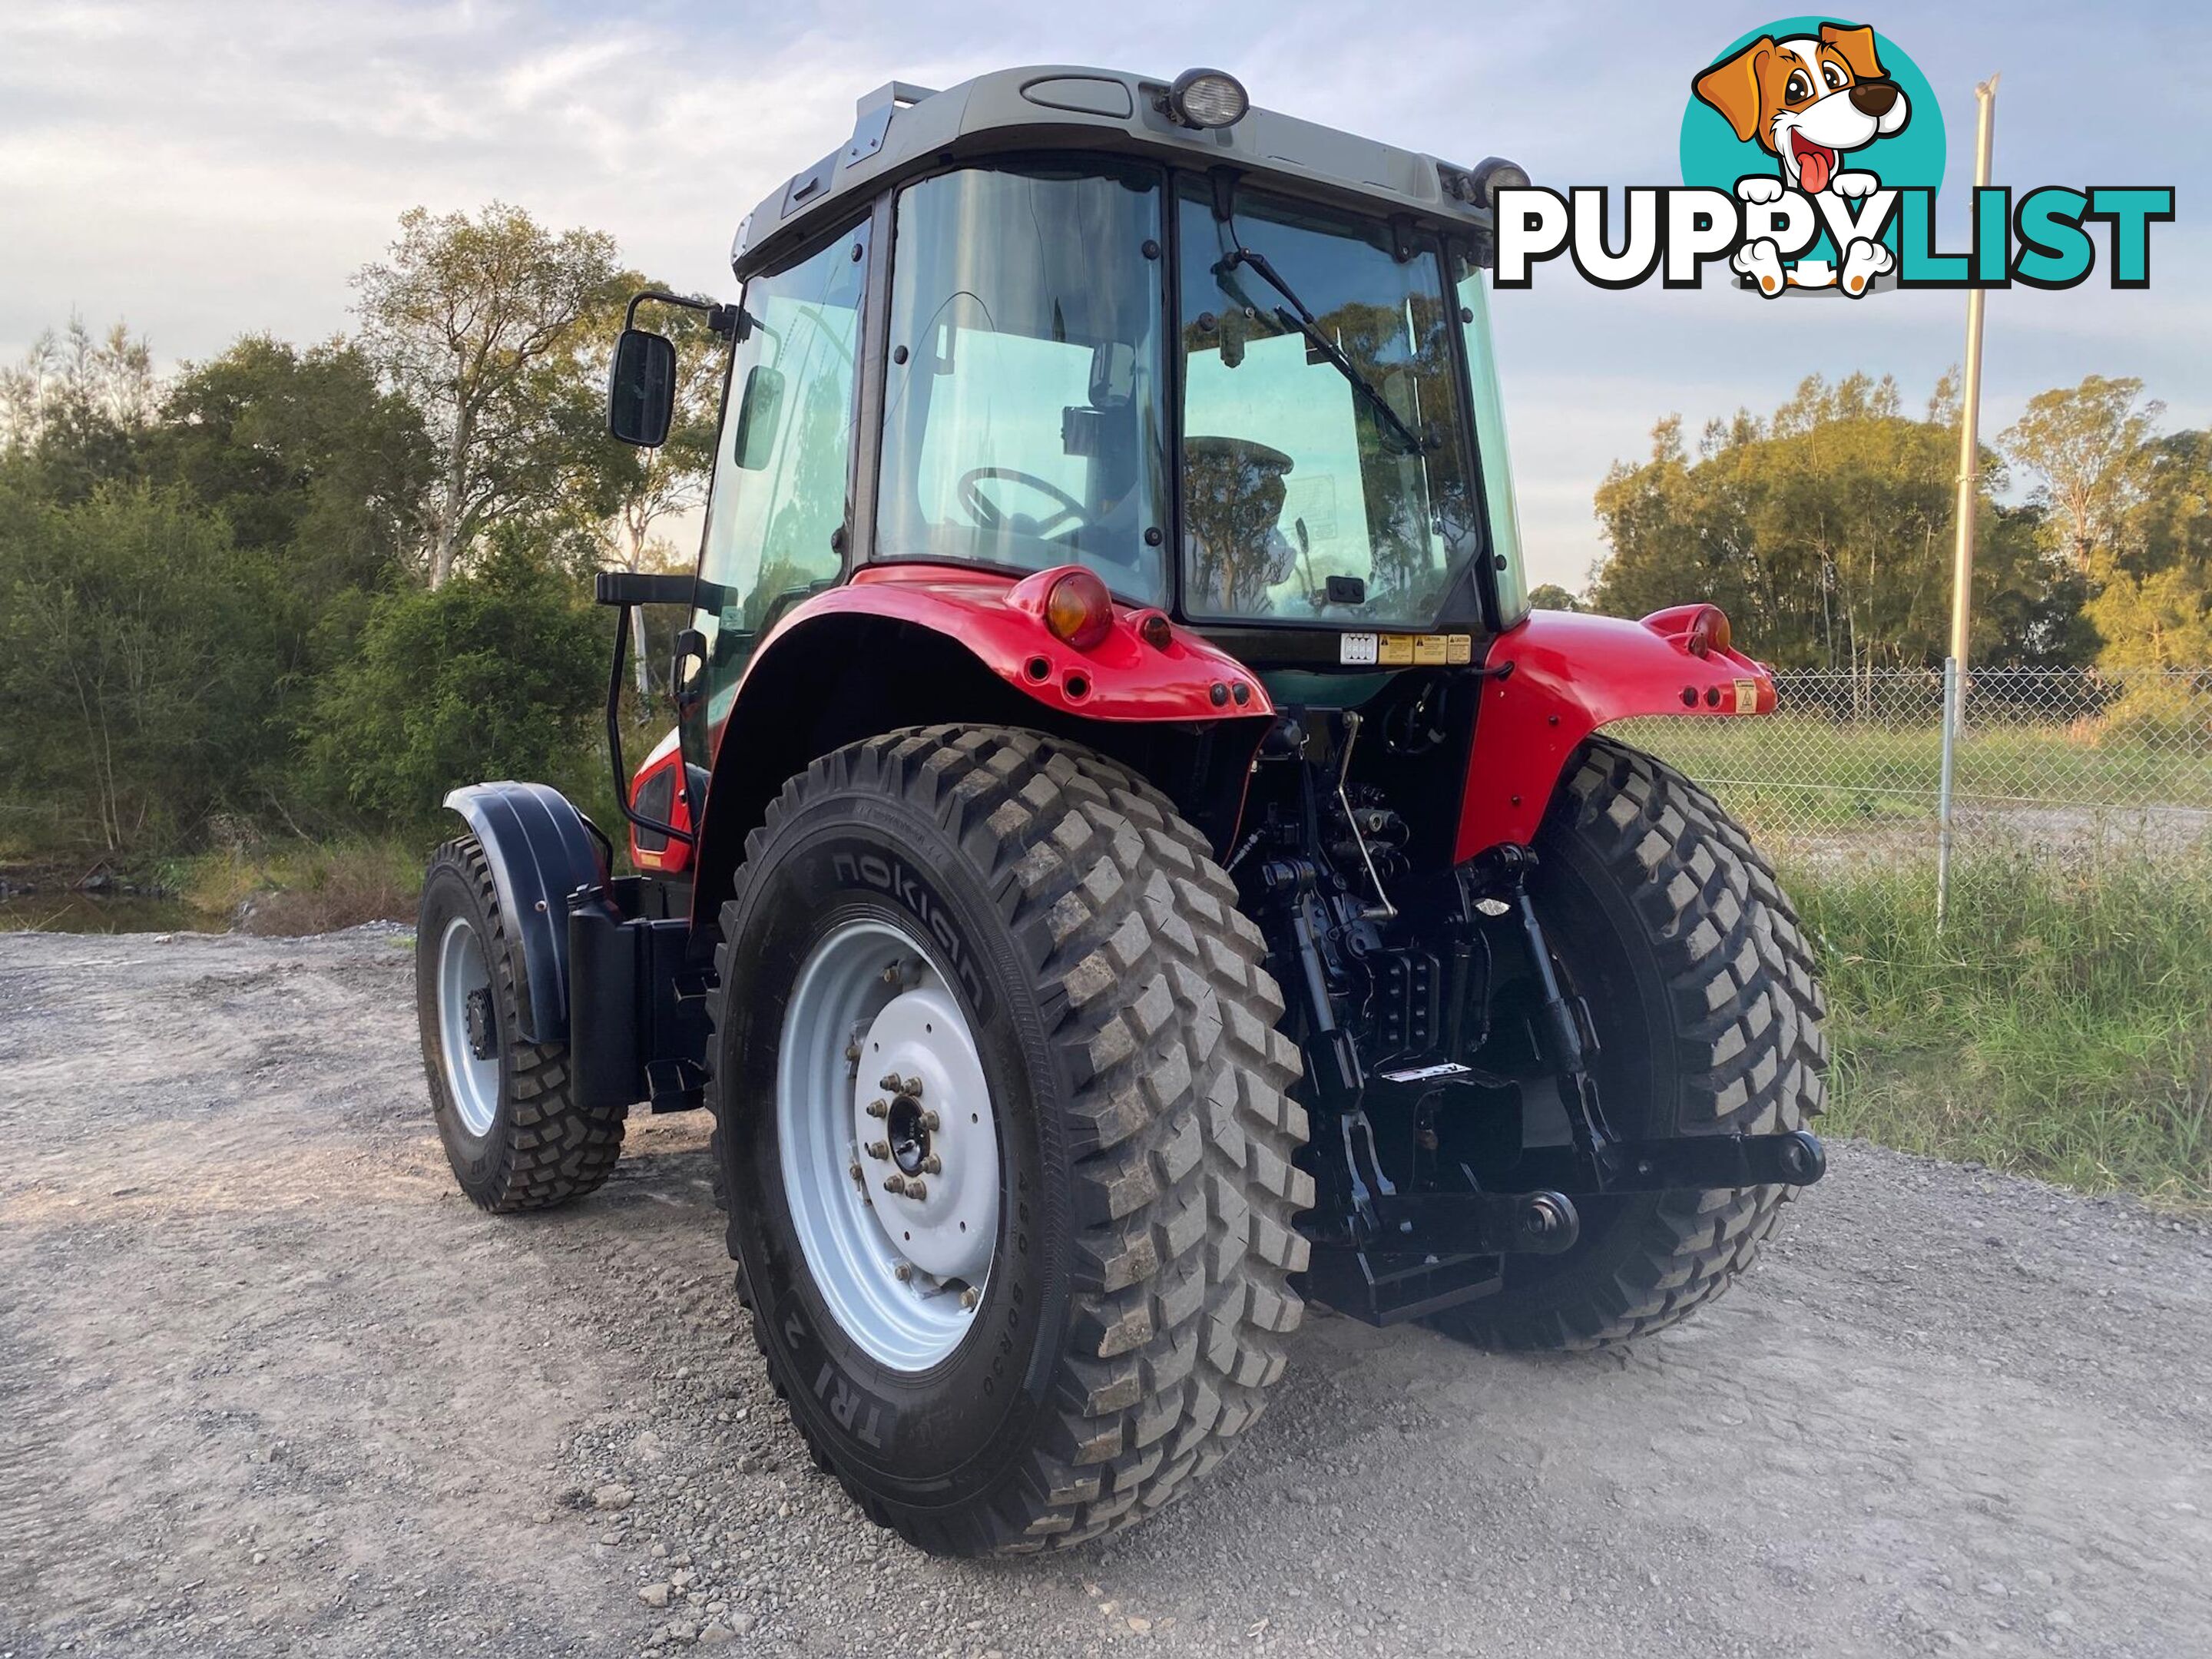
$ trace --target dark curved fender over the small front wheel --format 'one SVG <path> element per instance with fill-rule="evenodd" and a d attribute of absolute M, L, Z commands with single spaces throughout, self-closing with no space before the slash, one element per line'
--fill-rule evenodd
<path fill-rule="evenodd" d="M 568 1040 L 568 900 L 606 880 L 584 814 L 544 783 L 471 783 L 445 803 L 467 818 L 491 865 L 515 975 L 524 1042 Z"/>

